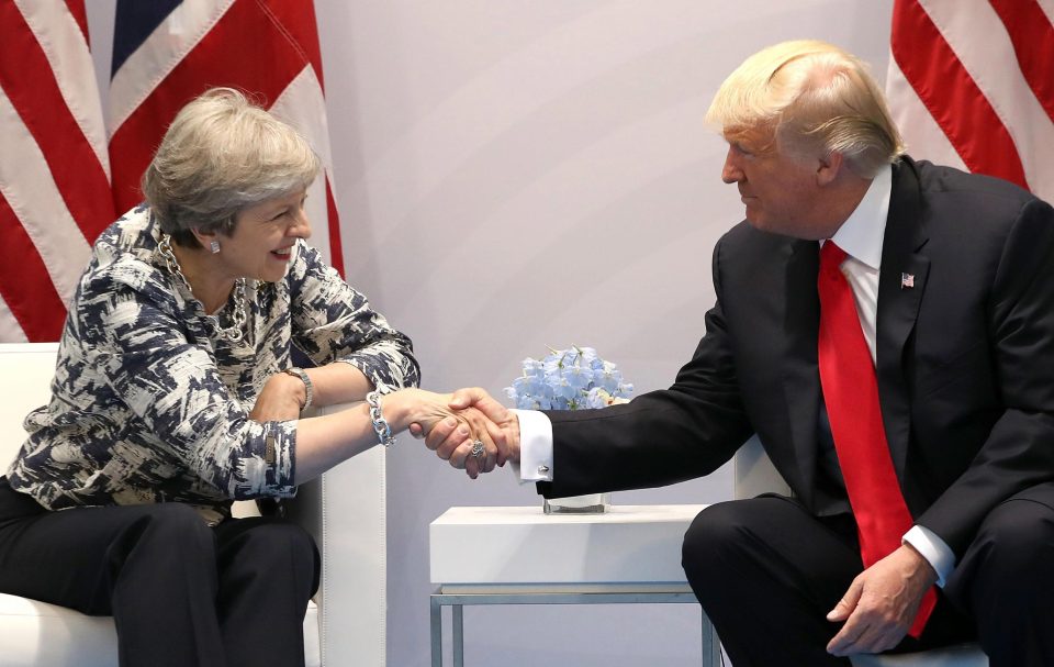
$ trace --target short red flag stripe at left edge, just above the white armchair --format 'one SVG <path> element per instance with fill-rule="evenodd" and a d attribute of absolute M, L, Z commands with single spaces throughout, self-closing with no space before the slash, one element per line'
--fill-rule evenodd
<path fill-rule="evenodd" d="M 22 221 L 0 194 L 0 296 L 25 336 L 33 343 L 57 341 L 66 321 L 66 307 L 52 277 L 25 233 Z"/>

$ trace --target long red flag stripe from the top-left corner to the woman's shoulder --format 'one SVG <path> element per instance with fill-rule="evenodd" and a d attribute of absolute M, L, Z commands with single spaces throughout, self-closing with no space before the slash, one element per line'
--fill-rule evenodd
<path fill-rule="evenodd" d="M 36 141 L 66 208 L 89 243 L 113 222 L 110 181 L 74 119 L 36 36 L 14 2 L 0 2 L 0 87 Z"/>

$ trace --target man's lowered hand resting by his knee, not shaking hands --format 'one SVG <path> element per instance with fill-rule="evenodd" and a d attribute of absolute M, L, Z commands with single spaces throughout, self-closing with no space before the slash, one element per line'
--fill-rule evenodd
<path fill-rule="evenodd" d="M 834 609 L 832 622 L 845 621 L 827 645 L 837 656 L 888 651 L 911 629 L 922 596 L 937 582 L 929 562 L 902 545 L 861 572 Z"/>

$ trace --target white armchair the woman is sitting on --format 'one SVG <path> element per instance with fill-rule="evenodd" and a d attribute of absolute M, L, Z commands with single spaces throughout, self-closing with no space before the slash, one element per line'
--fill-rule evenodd
<path fill-rule="evenodd" d="M 22 420 L 51 396 L 58 345 L 0 344 L 0 465 L 24 440 Z M 327 408 L 338 410 L 339 405 Z M 239 503 L 238 513 L 251 512 Z M 305 658 L 319 665 L 385 664 L 384 451 L 356 456 L 304 485 L 291 514 L 315 535 L 322 587 L 304 618 Z M 113 619 L 0 593 L 0 667 L 115 667 Z"/>

